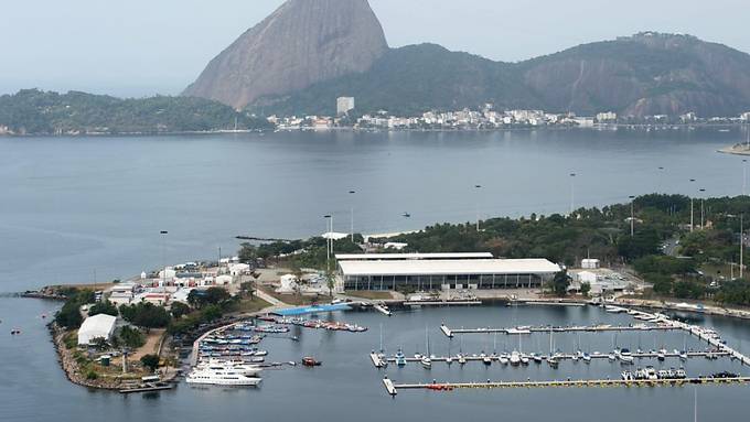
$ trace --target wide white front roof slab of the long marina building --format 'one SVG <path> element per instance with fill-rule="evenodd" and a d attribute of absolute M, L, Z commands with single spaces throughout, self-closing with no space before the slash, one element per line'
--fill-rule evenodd
<path fill-rule="evenodd" d="M 560 267 L 546 259 L 444 259 L 339 261 L 344 275 L 549 274 Z"/>

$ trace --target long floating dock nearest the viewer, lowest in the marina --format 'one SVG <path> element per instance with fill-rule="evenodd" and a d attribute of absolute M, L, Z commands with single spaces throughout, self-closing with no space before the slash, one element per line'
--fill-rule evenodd
<path fill-rule="evenodd" d="M 685 379 L 654 379 L 654 380 L 622 380 L 622 379 L 581 379 L 562 381 L 490 381 L 490 382 L 431 382 L 431 383 L 395 383 L 388 378 L 383 385 L 390 396 L 398 390 L 435 390 L 451 391 L 468 388 L 549 388 L 549 387 L 679 387 L 685 385 L 717 385 L 717 383 L 748 383 L 750 377 L 736 378 L 685 378 Z"/>

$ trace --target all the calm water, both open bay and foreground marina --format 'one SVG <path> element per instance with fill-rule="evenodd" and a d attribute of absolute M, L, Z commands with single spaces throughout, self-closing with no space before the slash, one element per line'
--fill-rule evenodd
<path fill-rule="evenodd" d="M 237 248 L 234 236 L 301 237 L 319 234 L 324 214 L 346 230 L 351 207 L 357 231 L 419 228 L 442 220 L 566 212 L 569 173 L 576 205 L 626 201 L 653 191 L 736 195 L 742 190 L 741 160 L 716 149 L 738 133 L 693 132 L 499 132 L 499 133 L 276 133 L 162 138 L 0 138 L 0 292 L 55 282 L 129 277 L 169 262 L 215 257 Z M 664 171 L 658 171 L 664 166 Z M 698 182 L 690 184 L 689 178 Z M 480 192 L 475 184 L 484 186 Z M 354 195 L 347 194 L 356 190 Z M 413 218 L 400 217 L 409 212 Z M 169 230 L 160 239 L 159 230 Z M 162 253 L 162 241 L 163 249 Z M 692 418 L 693 390 L 551 389 L 430 393 L 403 392 L 396 400 L 381 387 L 383 372 L 368 363 L 384 324 L 385 346 L 409 355 L 425 347 L 446 353 L 437 327 L 617 322 L 594 309 L 429 310 L 385 318 L 345 313 L 334 318 L 371 327 L 363 335 L 303 331 L 302 340 L 269 340 L 272 360 L 315 355 L 325 363 L 269 371 L 259 390 L 191 389 L 181 385 L 158 396 L 120 397 L 69 385 L 55 361 L 43 313 L 55 304 L 0 297 L 0 420 L 424 420 L 465 419 L 632 421 L 634 414 L 667 421 Z M 707 320 L 730 344 L 750 345 L 744 323 Z M 10 327 L 23 335 L 10 337 Z M 559 338 L 558 338 L 559 337 Z M 505 337 L 465 336 L 469 353 L 522 347 L 546 351 L 546 335 L 516 345 Z M 609 350 L 682 348 L 681 334 L 556 336 L 556 347 Z M 576 346 L 575 346 L 576 345 Z M 693 345 L 697 347 L 697 345 Z M 451 350 L 460 347 L 452 342 Z M 750 346 L 748 346 L 750 347 Z M 698 359 L 692 375 L 742 369 Z M 677 365 L 673 363 L 672 365 Z M 398 381 L 617 377 L 619 365 L 562 364 L 523 369 L 475 364 L 427 374 L 417 366 L 390 368 Z M 748 374 L 747 370 L 742 370 Z M 699 390 L 700 420 L 742 420 L 750 411 L 747 387 Z M 615 411 L 614 409 L 626 409 Z"/>

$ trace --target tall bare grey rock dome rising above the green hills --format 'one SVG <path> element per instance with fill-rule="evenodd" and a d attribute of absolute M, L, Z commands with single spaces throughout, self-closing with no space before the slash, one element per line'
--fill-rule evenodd
<path fill-rule="evenodd" d="M 212 59 L 183 95 L 242 108 L 365 72 L 387 51 L 367 0 L 288 0 Z"/>

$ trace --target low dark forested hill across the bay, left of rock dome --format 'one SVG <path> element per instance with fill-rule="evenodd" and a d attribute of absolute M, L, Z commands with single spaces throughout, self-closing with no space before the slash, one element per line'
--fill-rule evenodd
<path fill-rule="evenodd" d="M 266 119 L 190 97 L 121 99 L 25 89 L 0 96 L 0 133 L 115 134 L 269 129 Z"/>

